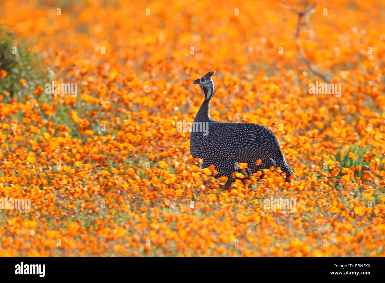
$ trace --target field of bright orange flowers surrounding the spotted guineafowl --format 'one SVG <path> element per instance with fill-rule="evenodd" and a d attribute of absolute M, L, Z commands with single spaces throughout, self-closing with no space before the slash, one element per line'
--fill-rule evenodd
<path fill-rule="evenodd" d="M 383 1 L 3 0 L 0 28 L 1 256 L 385 255 Z M 211 117 L 300 181 L 192 158 L 211 70 Z"/>

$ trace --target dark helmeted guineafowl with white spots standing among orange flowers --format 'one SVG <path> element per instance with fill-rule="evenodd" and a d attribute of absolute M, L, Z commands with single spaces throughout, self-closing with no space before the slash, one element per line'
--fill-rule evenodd
<path fill-rule="evenodd" d="M 203 159 L 202 168 L 211 164 L 219 172 L 215 177 L 228 177 L 224 188 L 228 189 L 233 181 L 233 172 L 241 172 L 238 162 L 248 164 L 251 173 L 281 167 L 286 173 L 286 181 L 294 174 L 286 163 L 275 134 L 265 126 L 253 123 L 233 123 L 214 121 L 210 117 L 210 100 L 214 94 L 214 82 L 211 78 L 215 71 L 208 72 L 201 79 L 194 80 L 204 92 L 205 99 L 195 116 L 190 136 L 190 151 L 194 158 Z M 201 131 L 203 129 L 203 131 Z M 261 159 L 261 164 L 256 161 Z M 291 178 L 290 178 L 291 176 Z"/>

